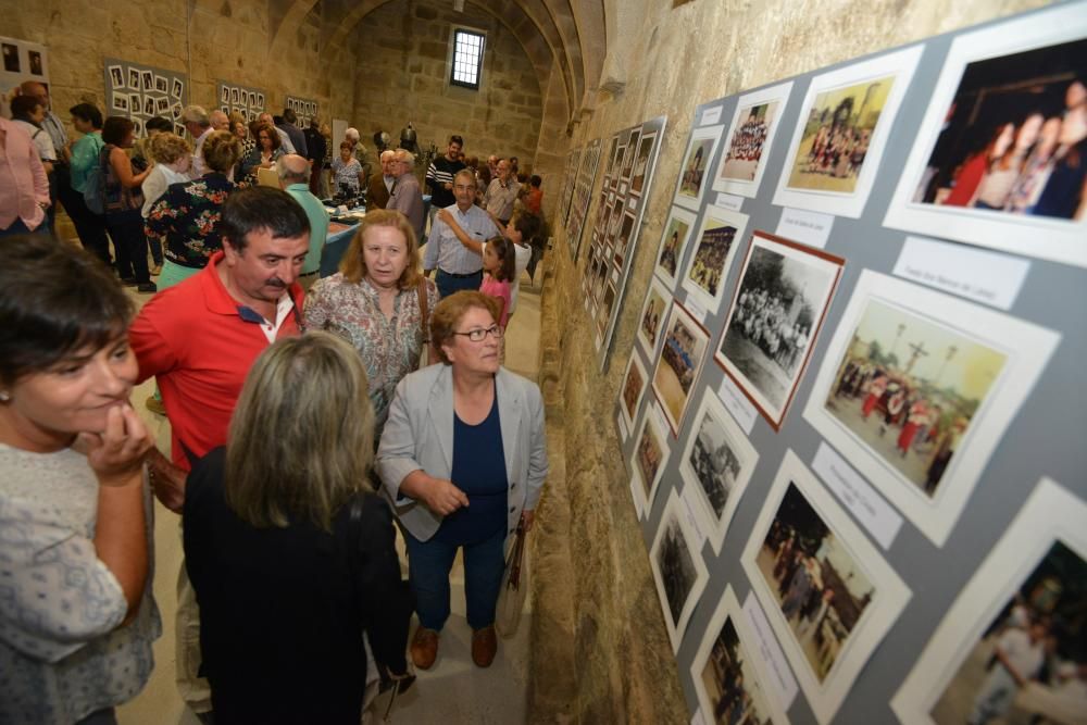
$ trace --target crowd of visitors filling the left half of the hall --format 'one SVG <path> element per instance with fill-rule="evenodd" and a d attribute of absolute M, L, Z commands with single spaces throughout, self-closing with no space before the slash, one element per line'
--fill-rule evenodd
<path fill-rule="evenodd" d="M 51 154 L 0 118 L 20 154 L 0 214 L 0 528 L 21 532 L 0 557 L 0 722 L 115 723 L 147 684 L 152 495 L 184 524 L 174 657 L 202 722 L 358 723 L 435 665 L 459 550 L 489 666 L 505 551 L 548 468 L 539 388 L 502 366 L 538 177 L 495 158 L 480 197 L 476 171 L 432 164 L 451 201 L 424 247 L 414 157 L 383 154 L 385 208 L 317 279 L 325 149 L 292 123 L 188 107 L 190 139 L 149 122 L 137 145 L 129 120 L 82 103 L 70 143 L 36 86 L 14 105 L 51 142 L 57 124 Z M 84 249 L 55 237 L 55 200 Z M 153 296 L 137 309 L 126 285 Z M 130 401 L 152 377 L 168 454 Z"/>

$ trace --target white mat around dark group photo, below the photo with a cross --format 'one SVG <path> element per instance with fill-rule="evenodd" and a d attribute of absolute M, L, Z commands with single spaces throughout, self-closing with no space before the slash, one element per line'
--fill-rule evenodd
<path fill-rule="evenodd" d="M 814 509 L 852 563 L 874 585 L 875 591 L 822 683 L 812 671 L 808 657 L 782 612 L 777 595 L 771 590 L 758 562 L 763 541 L 790 484 Z M 785 453 L 740 561 L 815 718 L 821 725 L 830 722 L 872 652 L 909 602 L 910 589 L 791 449 Z"/>

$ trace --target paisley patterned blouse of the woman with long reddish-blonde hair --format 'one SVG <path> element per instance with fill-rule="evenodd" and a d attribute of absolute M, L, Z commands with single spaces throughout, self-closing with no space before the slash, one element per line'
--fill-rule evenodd
<path fill-rule="evenodd" d="M 382 437 L 397 384 L 418 367 L 428 337 L 424 330 L 429 329 L 438 303 L 438 288 L 429 279 L 426 299 L 428 318 L 423 324 L 417 287 L 400 290 L 391 317 L 382 312 L 377 290 L 368 280 L 348 282 L 340 272 L 318 279 L 305 296 L 305 325 L 341 336 L 362 355 L 374 404 L 375 439 Z"/>

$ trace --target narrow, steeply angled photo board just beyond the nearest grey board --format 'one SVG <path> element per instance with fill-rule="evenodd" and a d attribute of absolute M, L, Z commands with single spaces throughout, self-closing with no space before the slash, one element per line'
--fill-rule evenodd
<path fill-rule="evenodd" d="M 630 261 L 641 236 L 641 217 L 664 138 L 665 116 L 624 128 L 604 148 L 604 175 L 582 277 L 585 309 L 592 318 L 597 364 L 608 366 L 612 334 L 623 307 Z"/>

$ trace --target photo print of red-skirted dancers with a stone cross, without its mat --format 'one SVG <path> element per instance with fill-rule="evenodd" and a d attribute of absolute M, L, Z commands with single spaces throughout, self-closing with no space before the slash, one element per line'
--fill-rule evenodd
<path fill-rule="evenodd" d="M 869 300 L 826 411 L 887 467 L 933 498 L 1005 353 L 936 320 Z"/>

